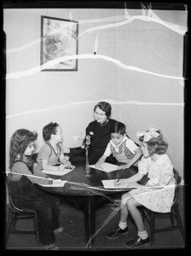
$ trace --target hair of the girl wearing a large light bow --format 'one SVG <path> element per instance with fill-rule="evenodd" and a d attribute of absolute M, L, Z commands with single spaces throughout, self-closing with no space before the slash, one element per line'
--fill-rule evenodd
<path fill-rule="evenodd" d="M 162 135 L 160 130 L 157 131 L 159 133 L 159 137 L 152 137 L 148 142 L 148 154 L 152 156 L 153 154 L 165 154 L 168 143 L 165 141 L 165 137 Z M 139 141 L 143 143 L 144 136 L 139 138 Z"/>

